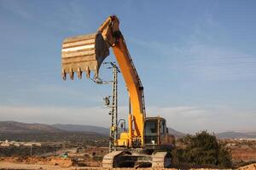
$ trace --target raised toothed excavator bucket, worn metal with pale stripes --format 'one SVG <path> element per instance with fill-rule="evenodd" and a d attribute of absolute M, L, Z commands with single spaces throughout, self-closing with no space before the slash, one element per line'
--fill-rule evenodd
<path fill-rule="evenodd" d="M 104 41 L 101 33 L 93 33 L 77 37 L 68 37 L 62 43 L 61 66 L 62 78 L 66 80 L 67 74 L 73 80 L 76 72 L 82 78 L 83 71 L 90 77 L 98 77 L 102 61 L 109 55 L 108 43 Z"/>

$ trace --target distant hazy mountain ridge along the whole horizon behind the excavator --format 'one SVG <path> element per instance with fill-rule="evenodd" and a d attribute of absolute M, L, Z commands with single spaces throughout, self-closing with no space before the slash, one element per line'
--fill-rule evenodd
<path fill-rule="evenodd" d="M 179 132 L 171 127 L 168 127 L 169 133 L 176 138 L 181 138 L 186 133 Z M 15 121 L 0 122 L 0 133 L 95 133 L 108 136 L 108 127 L 81 125 L 81 124 L 61 124 L 55 123 L 52 125 L 44 123 L 24 123 Z M 215 133 L 218 139 L 256 139 L 256 132 L 234 132 L 227 131 L 223 133 Z"/>

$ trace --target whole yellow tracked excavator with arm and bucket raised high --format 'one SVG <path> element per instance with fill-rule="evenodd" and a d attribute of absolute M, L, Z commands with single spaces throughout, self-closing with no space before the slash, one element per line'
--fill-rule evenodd
<path fill-rule="evenodd" d="M 168 133 L 166 119 L 160 116 L 147 117 L 143 84 L 121 31 L 117 16 L 109 16 L 96 33 L 67 37 L 62 42 L 61 74 L 64 80 L 74 73 L 81 79 L 83 72 L 90 78 L 98 78 L 99 69 L 109 55 L 109 48 L 118 62 L 129 94 L 131 109 L 128 113 L 128 130 L 114 141 L 114 151 L 102 159 L 102 167 L 170 167 L 174 137 Z"/>

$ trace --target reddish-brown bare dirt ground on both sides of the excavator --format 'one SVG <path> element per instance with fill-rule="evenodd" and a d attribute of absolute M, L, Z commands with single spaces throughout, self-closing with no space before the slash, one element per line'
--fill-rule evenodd
<path fill-rule="evenodd" d="M 231 151 L 232 161 L 234 164 L 236 163 L 236 167 L 241 170 L 256 170 L 256 148 L 254 143 L 228 140 L 225 141 L 225 144 Z M 10 148 L 10 150 L 14 149 Z M 65 156 L 65 153 L 67 153 L 67 156 Z M 0 156 L 0 169 L 102 169 L 102 156 L 107 153 L 108 147 L 86 147 L 86 149 L 71 147 L 35 156 Z M 251 163 L 251 165 L 243 166 L 245 163 Z M 183 167 L 183 169 L 188 168 Z"/>

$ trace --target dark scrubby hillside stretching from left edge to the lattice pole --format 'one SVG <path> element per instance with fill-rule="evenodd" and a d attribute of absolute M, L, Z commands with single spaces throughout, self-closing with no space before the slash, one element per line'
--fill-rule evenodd
<path fill-rule="evenodd" d="M 39 123 L 0 122 L 0 140 L 71 142 L 70 144 L 90 144 L 108 146 L 108 137 L 94 132 L 68 132 Z"/>

